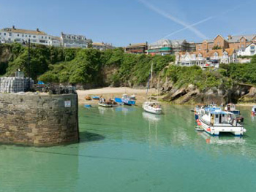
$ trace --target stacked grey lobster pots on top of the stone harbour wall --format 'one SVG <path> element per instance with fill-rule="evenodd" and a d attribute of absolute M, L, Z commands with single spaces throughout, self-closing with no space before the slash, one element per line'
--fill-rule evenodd
<path fill-rule="evenodd" d="M 25 77 L 1 77 L 0 93 L 18 93 L 29 91 L 34 81 Z"/>

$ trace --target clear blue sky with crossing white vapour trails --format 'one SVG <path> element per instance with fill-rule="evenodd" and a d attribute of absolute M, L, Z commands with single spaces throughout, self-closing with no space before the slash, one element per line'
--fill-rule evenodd
<path fill-rule="evenodd" d="M 217 34 L 256 34 L 256 0 L 9 0 L 0 1 L 0 28 L 83 34 L 115 46 Z"/>

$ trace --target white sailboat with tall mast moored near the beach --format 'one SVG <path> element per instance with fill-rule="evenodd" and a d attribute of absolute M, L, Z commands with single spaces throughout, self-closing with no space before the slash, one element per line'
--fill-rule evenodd
<path fill-rule="evenodd" d="M 152 78 L 153 78 L 153 63 L 151 64 L 151 77 L 150 77 L 150 89 L 152 88 Z M 158 92 L 158 89 L 157 89 Z M 148 91 L 147 91 L 148 93 Z M 147 96 L 146 96 L 147 98 Z M 157 100 L 158 100 L 158 94 L 157 94 Z M 158 101 L 151 101 L 151 94 L 149 101 L 145 101 L 143 103 L 143 110 L 146 112 L 150 112 L 152 114 L 160 115 L 162 114 L 162 107 L 161 104 L 159 104 Z"/>

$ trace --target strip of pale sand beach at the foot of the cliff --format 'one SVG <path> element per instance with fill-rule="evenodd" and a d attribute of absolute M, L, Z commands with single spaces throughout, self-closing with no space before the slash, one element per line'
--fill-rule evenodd
<path fill-rule="evenodd" d="M 89 90 L 78 90 L 78 100 L 79 104 L 88 104 L 88 103 L 97 103 L 97 100 L 86 101 L 86 96 L 103 96 L 105 99 L 121 97 L 122 94 L 127 93 L 128 96 L 135 94 L 136 103 L 142 104 L 146 100 L 146 89 L 134 89 L 134 88 L 98 88 L 98 89 L 89 89 Z M 157 90 L 151 89 L 148 91 L 149 94 L 157 94 Z"/>

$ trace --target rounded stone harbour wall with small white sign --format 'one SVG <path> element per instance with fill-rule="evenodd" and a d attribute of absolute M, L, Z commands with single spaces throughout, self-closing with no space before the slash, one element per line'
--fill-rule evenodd
<path fill-rule="evenodd" d="M 51 146 L 78 141 L 76 94 L 0 93 L 0 143 Z"/>

